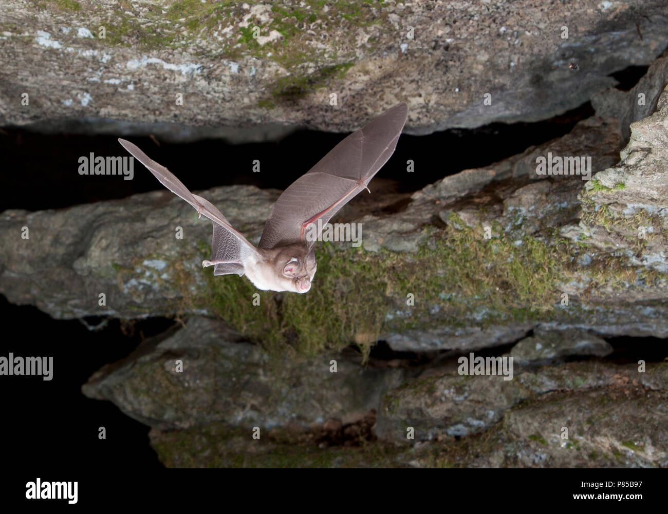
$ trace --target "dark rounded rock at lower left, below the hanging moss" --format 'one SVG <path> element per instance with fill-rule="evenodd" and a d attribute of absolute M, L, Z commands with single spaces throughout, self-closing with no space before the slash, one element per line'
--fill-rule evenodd
<path fill-rule="evenodd" d="M 194 318 L 173 336 L 147 341 L 124 362 L 102 368 L 83 393 L 114 401 L 124 413 L 164 430 L 214 422 L 310 429 L 329 420 L 360 421 L 377 409 L 397 375 L 334 354 L 272 360 L 241 340 L 219 321 Z"/>

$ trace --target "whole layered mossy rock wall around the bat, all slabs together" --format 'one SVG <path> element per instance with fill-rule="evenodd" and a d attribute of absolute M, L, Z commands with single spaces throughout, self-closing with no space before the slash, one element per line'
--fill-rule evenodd
<path fill-rule="evenodd" d="M 210 224 L 166 190 L 3 212 L 0 293 L 61 319 L 185 320 L 83 386 L 152 427 L 168 466 L 667 467 L 667 363 L 609 339 L 668 337 L 668 57 L 608 89 L 668 44 L 663 9 L 10 1 L 0 123 L 257 140 L 351 130 L 398 100 L 413 134 L 588 99 L 596 114 L 410 196 L 351 202 L 337 221 L 359 222 L 362 246 L 319 244 L 308 294 L 202 270 Z M 200 194 L 255 244 L 279 196 Z M 508 374 L 462 374 L 471 353 Z"/>

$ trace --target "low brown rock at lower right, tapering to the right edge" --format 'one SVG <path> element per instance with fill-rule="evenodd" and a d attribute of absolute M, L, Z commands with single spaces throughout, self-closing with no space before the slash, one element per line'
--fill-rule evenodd
<path fill-rule="evenodd" d="M 576 354 L 576 352 L 574 352 Z M 415 378 L 387 391 L 378 412 L 379 439 L 409 443 L 407 427 L 414 427 L 415 441 L 465 437 L 491 429 L 522 402 L 542 400 L 552 391 L 574 398 L 592 388 L 635 384 L 653 391 L 665 390 L 666 366 L 641 373 L 637 364 L 615 366 L 593 361 L 543 366 L 535 370 L 513 368 L 504 375 L 460 375 L 455 370 Z M 546 401 L 546 400 L 545 400 Z M 575 401 L 575 400 L 574 400 Z M 546 401 L 546 403 L 548 403 Z M 583 409 L 578 407 L 578 416 Z M 665 413 L 663 413 L 665 415 Z M 504 422 L 505 423 L 505 422 Z M 555 429 L 557 430 L 557 429 Z"/>

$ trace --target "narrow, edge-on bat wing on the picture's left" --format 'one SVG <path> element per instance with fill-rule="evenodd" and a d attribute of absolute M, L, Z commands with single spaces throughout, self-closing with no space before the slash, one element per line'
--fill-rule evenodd
<path fill-rule="evenodd" d="M 244 263 L 251 256 L 258 256 L 257 249 L 235 230 L 225 216 L 211 202 L 192 194 L 186 186 L 167 168 L 148 158 L 138 146 L 126 140 L 118 140 L 123 147 L 156 176 L 160 184 L 180 196 L 193 206 L 200 216 L 204 214 L 213 222 L 213 242 L 211 260 L 202 262 L 204 266 L 215 266 L 214 275 L 244 274 Z"/>

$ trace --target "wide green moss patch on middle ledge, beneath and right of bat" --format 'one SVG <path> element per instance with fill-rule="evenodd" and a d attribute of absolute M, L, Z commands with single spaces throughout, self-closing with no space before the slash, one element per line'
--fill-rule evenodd
<path fill-rule="evenodd" d="M 559 298 L 560 249 L 530 237 L 521 246 L 503 236 L 485 240 L 478 232 L 435 230 L 430 248 L 415 255 L 319 244 L 308 294 L 258 291 L 246 278 L 214 277 L 204 269 L 208 292 L 196 306 L 210 308 L 270 351 L 306 355 L 351 343 L 368 354 L 387 330 L 548 316 Z M 200 252 L 207 258 L 210 246 L 200 242 Z M 413 306 L 406 304 L 409 293 Z M 253 306 L 254 294 L 260 306 Z M 434 306 L 438 316 L 430 312 Z"/>

